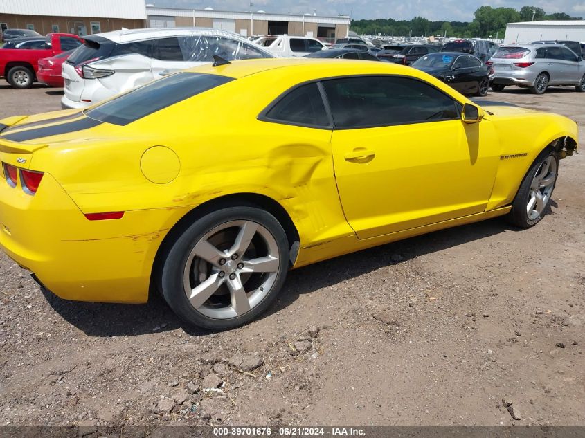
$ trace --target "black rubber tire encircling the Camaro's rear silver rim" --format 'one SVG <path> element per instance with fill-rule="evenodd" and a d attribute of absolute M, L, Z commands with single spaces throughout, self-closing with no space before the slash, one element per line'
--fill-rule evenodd
<path fill-rule="evenodd" d="M 276 280 L 273 281 L 269 291 L 263 293 L 265 295 L 258 304 L 251 307 L 249 311 L 234 318 L 210 318 L 210 316 L 204 315 L 201 311 L 195 309 L 188 300 L 186 289 L 183 286 L 183 273 L 186 272 L 186 265 L 188 264 L 191 251 L 195 248 L 196 244 L 217 226 L 222 226 L 222 224 L 231 221 L 251 221 L 264 227 L 271 237 L 273 237 L 276 246 L 278 246 L 278 259 L 280 263 L 278 265 L 278 271 L 275 273 Z M 229 262 L 230 260 L 224 266 L 228 266 Z M 174 244 L 170 246 L 167 253 L 163 254 L 163 266 L 159 272 L 159 278 L 156 280 L 158 280 L 157 282 L 163 298 L 174 313 L 177 313 L 179 318 L 190 325 L 204 329 L 226 330 L 244 325 L 258 318 L 269 307 L 285 283 L 289 264 L 289 242 L 287 235 L 273 215 L 265 210 L 251 206 L 228 207 L 210 212 L 184 230 L 177 240 L 174 241 Z M 189 268 L 190 271 L 191 268 Z M 227 276 L 225 279 L 227 280 Z M 242 279 L 242 283 L 245 286 L 246 280 Z"/>

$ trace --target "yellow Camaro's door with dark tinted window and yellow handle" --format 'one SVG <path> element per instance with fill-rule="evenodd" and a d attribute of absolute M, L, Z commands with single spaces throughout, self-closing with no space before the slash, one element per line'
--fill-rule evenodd
<path fill-rule="evenodd" d="M 413 78 L 322 84 L 339 197 L 359 239 L 485 211 L 499 161 L 489 122 L 463 123 L 458 102 Z"/>

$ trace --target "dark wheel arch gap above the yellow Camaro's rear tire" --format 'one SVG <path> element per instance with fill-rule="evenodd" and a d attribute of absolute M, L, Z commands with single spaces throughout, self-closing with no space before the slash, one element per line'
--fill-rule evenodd
<path fill-rule="evenodd" d="M 201 205 L 187 212 L 186 215 L 181 217 L 181 219 L 179 219 L 179 221 L 177 221 L 177 223 L 175 223 L 174 226 L 170 228 L 167 235 L 165 235 L 163 238 L 159 249 L 156 251 L 156 255 L 154 256 L 151 279 L 154 279 L 156 277 L 156 273 L 158 273 L 162 268 L 165 253 L 170 250 L 170 247 L 174 241 L 177 240 L 177 238 L 188 226 L 210 212 L 214 212 L 221 208 L 238 206 L 262 208 L 276 217 L 276 220 L 278 220 L 282 228 L 284 228 L 287 239 L 289 241 L 289 260 L 292 266 L 298 255 L 298 249 L 300 248 L 300 237 L 298 235 L 298 230 L 294 224 L 294 221 L 291 219 L 287 210 L 285 210 L 285 208 L 282 207 L 278 201 L 275 201 L 266 195 L 257 193 L 236 193 L 226 194 L 222 197 L 210 199 L 209 201 L 202 203 Z"/>

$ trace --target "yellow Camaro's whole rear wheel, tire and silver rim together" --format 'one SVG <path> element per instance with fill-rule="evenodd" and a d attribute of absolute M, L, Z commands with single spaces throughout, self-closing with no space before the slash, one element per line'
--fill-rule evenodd
<path fill-rule="evenodd" d="M 160 288 L 186 322 L 231 329 L 258 317 L 289 268 L 285 230 L 269 212 L 231 207 L 189 226 L 165 258 Z"/>

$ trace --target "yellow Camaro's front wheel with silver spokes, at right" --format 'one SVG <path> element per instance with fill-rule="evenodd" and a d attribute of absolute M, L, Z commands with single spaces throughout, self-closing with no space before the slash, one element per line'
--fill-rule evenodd
<path fill-rule="evenodd" d="M 530 228 L 542 219 L 555 190 L 558 169 L 559 157 L 554 149 L 546 149 L 534 160 L 512 203 L 510 223 Z"/>

